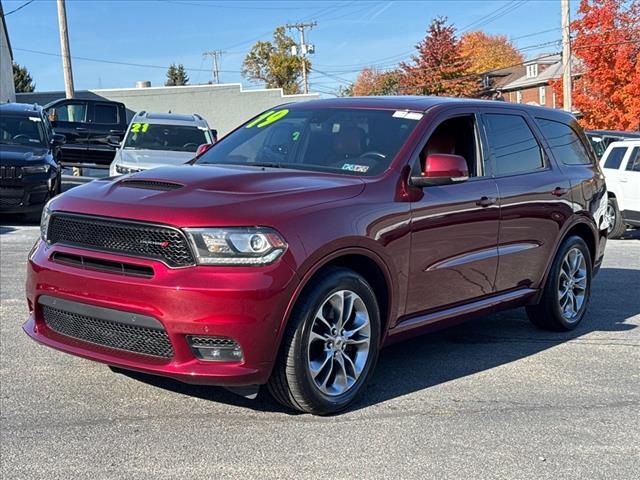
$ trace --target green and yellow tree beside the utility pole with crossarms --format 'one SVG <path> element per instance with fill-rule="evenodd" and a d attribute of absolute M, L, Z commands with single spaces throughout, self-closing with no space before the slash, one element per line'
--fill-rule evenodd
<path fill-rule="evenodd" d="M 287 95 L 300 93 L 302 62 L 307 63 L 307 71 L 310 71 L 311 62 L 292 54 L 291 47 L 295 45 L 295 40 L 285 34 L 284 27 L 276 28 L 273 41 L 259 41 L 251 47 L 242 63 L 242 75 L 264 82 L 267 88 L 282 88 Z"/>

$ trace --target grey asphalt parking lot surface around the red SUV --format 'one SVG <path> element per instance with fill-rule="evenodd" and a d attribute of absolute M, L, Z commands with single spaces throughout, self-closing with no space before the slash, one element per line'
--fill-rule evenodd
<path fill-rule="evenodd" d="M 609 242 L 576 331 L 518 309 L 395 345 L 334 417 L 37 345 L 21 329 L 37 237 L 0 227 L 2 478 L 638 478 L 640 231 Z"/>

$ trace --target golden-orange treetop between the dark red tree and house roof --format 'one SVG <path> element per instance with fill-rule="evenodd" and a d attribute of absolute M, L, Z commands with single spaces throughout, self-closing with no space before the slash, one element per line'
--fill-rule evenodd
<path fill-rule="evenodd" d="M 484 73 L 522 63 L 524 58 L 504 35 L 467 32 L 460 38 L 460 54 L 469 60 L 470 73 Z"/>

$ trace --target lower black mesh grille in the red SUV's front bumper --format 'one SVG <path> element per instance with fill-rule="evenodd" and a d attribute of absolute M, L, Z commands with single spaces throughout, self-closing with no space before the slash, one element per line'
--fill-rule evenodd
<path fill-rule="evenodd" d="M 44 321 L 65 337 L 153 357 L 171 358 L 173 348 L 162 329 L 127 325 L 41 305 Z"/>

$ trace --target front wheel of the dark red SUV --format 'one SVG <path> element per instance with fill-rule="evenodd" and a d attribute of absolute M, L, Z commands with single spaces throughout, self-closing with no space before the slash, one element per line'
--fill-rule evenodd
<path fill-rule="evenodd" d="M 346 408 L 378 358 L 380 313 L 357 273 L 334 268 L 298 300 L 268 388 L 286 407 L 317 415 Z"/>

